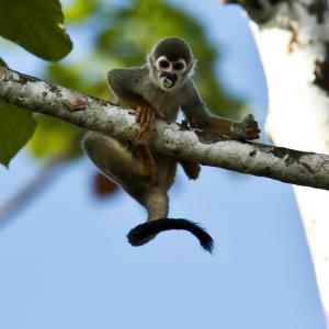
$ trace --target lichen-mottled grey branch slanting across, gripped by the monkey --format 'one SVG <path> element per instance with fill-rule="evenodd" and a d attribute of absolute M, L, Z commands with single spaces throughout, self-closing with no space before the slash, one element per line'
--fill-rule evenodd
<path fill-rule="evenodd" d="M 132 111 L 0 67 L 0 100 L 128 140 L 138 129 Z M 152 149 L 201 164 L 329 190 L 329 156 L 256 143 L 227 140 L 175 123 L 157 121 Z"/>

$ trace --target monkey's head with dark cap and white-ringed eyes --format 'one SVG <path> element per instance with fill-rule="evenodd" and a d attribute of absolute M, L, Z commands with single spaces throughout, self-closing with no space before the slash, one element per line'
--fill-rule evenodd
<path fill-rule="evenodd" d="M 185 41 L 170 36 L 154 46 L 148 63 L 152 81 L 164 91 L 173 91 L 193 71 L 195 59 Z"/>

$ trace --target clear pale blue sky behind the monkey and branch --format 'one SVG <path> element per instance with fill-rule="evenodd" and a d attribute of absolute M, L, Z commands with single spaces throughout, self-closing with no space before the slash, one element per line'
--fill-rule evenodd
<path fill-rule="evenodd" d="M 263 123 L 265 82 L 246 19 L 215 0 L 171 2 L 224 47 L 218 75 Z M 87 36 L 69 32 L 75 56 Z M 37 75 L 32 55 L 3 54 Z M 0 168 L 0 204 L 37 170 L 26 151 L 10 171 Z M 92 172 L 86 158 L 68 166 L 0 230 L 0 328 L 325 328 L 291 185 L 205 167 L 189 182 L 179 171 L 170 214 L 207 228 L 216 241 L 209 256 L 181 231 L 132 248 L 125 236 L 144 211 L 124 193 L 95 200 Z"/>

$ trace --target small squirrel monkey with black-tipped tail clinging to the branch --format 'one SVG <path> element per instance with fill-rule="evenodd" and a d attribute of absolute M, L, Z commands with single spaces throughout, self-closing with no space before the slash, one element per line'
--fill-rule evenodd
<path fill-rule="evenodd" d="M 154 46 L 143 67 L 109 71 L 109 84 L 117 103 L 135 110 L 140 129 L 129 143 L 98 132 L 88 132 L 83 137 L 83 149 L 94 164 L 148 213 L 147 222 L 127 236 L 133 246 L 145 245 L 163 230 L 184 229 L 193 234 L 205 250 L 212 252 L 213 249 L 212 237 L 197 224 L 168 218 L 168 190 L 173 183 L 177 163 L 182 164 L 190 179 L 197 178 L 200 166 L 150 150 L 156 134 L 152 123 L 157 117 L 173 122 L 181 109 L 192 127 L 236 139 L 259 138 L 260 129 L 252 115 L 242 122 L 232 122 L 208 112 L 191 79 L 194 66 L 188 43 L 179 37 L 166 37 Z"/>

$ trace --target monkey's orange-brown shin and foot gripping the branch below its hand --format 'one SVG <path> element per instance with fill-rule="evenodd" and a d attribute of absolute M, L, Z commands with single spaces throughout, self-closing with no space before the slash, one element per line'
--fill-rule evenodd
<path fill-rule="evenodd" d="M 135 146 L 136 156 L 145 167 L 146 180 L 149 181 L 152 185 L 157 185 L 158 180 L 156 174 L 156 163 L 149 145 L 156 134 L 157 129 L 149 126 L 144 126 L 132 138 L 132 143 Z"/>

